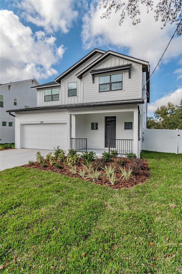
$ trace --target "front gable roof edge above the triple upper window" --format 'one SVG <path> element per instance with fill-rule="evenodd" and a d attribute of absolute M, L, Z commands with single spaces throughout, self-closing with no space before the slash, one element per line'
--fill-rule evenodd
<path fill-rule="evenodd" d="M 106 51 L 102 56 L 100 56 L 94 62 L 92 62 L 90 65 L 88 65 L 87 67 L 82 69 L 80 72 L 78 72 L 76 74 L 76 77 L 78 79 L 82 79 L 82 76 L 84 73 L 86 73 L 88 70 L 90 70 L 94 66 L 98 65 L 100 62 L 102 62 L 104 59 L 106 59 L 109 55 L 116 56 L 116 57 L 119 57 L 122 59 L 126 59 L 130 62 L 135 62 L 135 63 L 141 64 L 144 67 L 147 67 L 147 70 L 149 71 L 149 62 L 109 50 L 109 51 Z"/>

